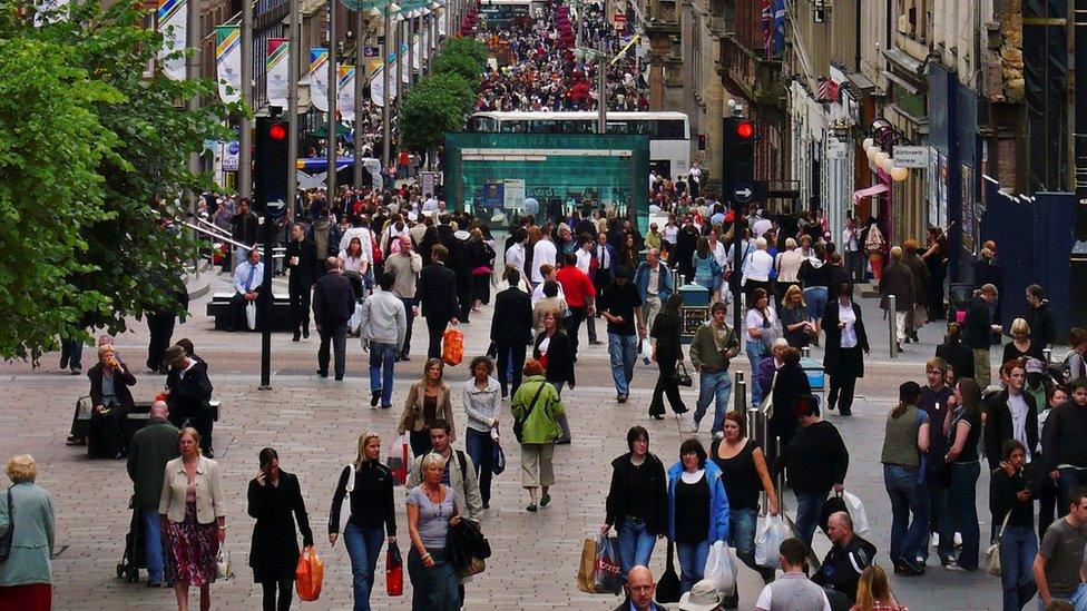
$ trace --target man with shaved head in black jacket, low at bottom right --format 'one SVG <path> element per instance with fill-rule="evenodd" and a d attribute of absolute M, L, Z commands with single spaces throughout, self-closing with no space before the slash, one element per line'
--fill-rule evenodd
<path fill-rule="evenodd" d="M 826 590 L 831 608 L 848 609 L 856 602 L 856 584 L 861 573 L 875 559 L 875 545 L 853 532 L 853 520 L 844 511 L 831 514 L 826 536 L 834 545 L 826 552 L 823 565 L 812 581 Z"/>

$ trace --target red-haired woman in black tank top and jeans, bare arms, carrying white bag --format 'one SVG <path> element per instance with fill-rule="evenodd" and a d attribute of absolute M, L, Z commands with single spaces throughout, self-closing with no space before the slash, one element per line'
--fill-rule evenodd
<path fill-rule="evenodd" d="M 738 412 L 725 414 L 725 438 L 711 447 L 714 463 L 721 467 L 721 479 L 728 495 L 728 543 L 736 548 L 736 556 L 762 575 L 774 580 L 774 570 L 755 564 L 755 526 L 758 523 L 758 493 L 765 491 L 770 514 L 777 515 L 777 494 L 766 467 L 766 456 L 754 440 L 744 436 L 743 416 Z M 738 601 L 737 601 L 738 602 Z"/>

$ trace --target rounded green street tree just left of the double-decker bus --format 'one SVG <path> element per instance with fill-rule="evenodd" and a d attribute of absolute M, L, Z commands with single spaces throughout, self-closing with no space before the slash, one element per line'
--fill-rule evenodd
<path fill-rule="evenodd" d="M 435 150 L 447 131 L 460 131 L 476 102 L 472 86 L 452 75 L 421 79 L 404 92 L 396 117 L 401 146 L 408 150 Z"/>

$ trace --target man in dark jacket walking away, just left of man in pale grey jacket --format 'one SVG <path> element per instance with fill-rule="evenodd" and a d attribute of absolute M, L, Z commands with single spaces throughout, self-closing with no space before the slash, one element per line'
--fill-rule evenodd
<path fill-rule="evenodd" d="M 346 368 L 347 319 L 355 309 L 351 280 L 340 272 L 340 259 L 325 259 L 327 272 L 313 287 L 313 323 L 321 336 L 317 348 L 317 375 L 329 377 L 329 344 L 335 352 L 336 381 L 343 380 Z"/>

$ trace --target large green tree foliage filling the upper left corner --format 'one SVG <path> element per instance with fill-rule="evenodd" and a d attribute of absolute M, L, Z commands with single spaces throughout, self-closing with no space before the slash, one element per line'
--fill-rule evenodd
<path fill-rule="evenodd" d="M 9 4 L 10 7 L 10 4 Z M 145 76 L 163 38 L 133 0 L 69 3 L 35 26 L 0 9 L 0 356 L 57 334 L 117 334 L 176 307 L 163 290 L 195 242 L 169 230 L 186 168 L 231 110 L 207 81 Z M 200 96 L 197 111 L 179 108 Z"/>

